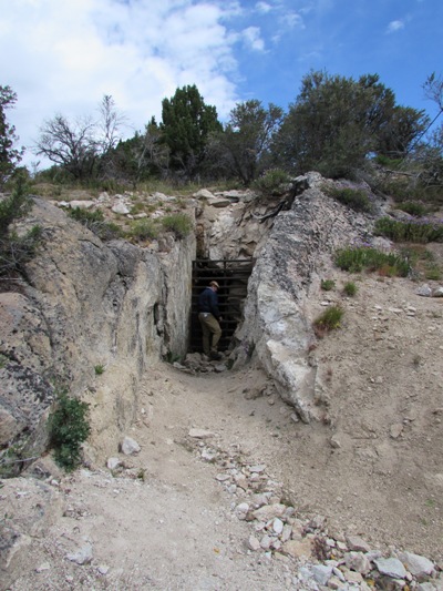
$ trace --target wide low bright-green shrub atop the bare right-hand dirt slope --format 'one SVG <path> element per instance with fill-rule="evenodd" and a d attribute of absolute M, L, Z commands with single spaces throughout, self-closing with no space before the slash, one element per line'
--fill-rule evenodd
<path fill-rule="evenodd" d="M 378 271 L 381 275 L 406 277 L 411 271 L 408 258 L 396 253 L 382 253 L 371 246 L 348 246 L 334 253 L 334 263 L 342 271 L 361 273 Z"/>

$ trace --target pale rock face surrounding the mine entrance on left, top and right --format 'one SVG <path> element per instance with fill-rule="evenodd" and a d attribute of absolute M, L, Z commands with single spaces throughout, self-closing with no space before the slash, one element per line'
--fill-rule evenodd
<path fill-rule="evenodd" d="M 302 193 L 288 201 L 288 211 L 279 206 L 278 216 L 250 192 L 202 191 L 189 200 L 195 235 L 147 247 L 103 243 L 35 198 L 25 225 L 44 228 L 43 245 L 20 293 L 0 294 L 0 445 L 29 431 L 27 455 L 38 456 L 64 383 L 91 405 L 96 446 L 87 451 L 103 461 L 106 440 L 119 439 L 134 420 L 138 379 L 151 360 L 187 351 L 196 256 L 256 261 L 231 360 L 236 367 L 254 354 L 299 417 L 316 418 L 306 304 L 323 261 L 343 236 L 364 238 L 369 221 L 326 197 L 319 174 L 302 179 Z"/>

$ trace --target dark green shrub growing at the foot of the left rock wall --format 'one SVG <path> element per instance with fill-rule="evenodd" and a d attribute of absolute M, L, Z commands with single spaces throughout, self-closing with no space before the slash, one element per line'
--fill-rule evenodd
<path fill-rule="evenodd" d="M 87 418 L 89 405 L 62 393 L 49 417 L 50 445 L 55 462 L 68 472 L 81 462 L 81 444 L 91 432 Z"/>

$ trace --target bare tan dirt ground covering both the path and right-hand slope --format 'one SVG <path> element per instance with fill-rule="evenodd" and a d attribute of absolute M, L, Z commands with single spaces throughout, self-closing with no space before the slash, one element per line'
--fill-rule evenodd
<path fill-rule="evenodd" d="M 313 319 L 329 299 L 346 315 L 310 354 L 323 421 L 296 422 L 253 366 L 198 375 L 151 368 L 127 434 L 140 454 L 120 456 L 121 472 L 93 467 L 61 480 L 68 510 L 32 539 L 11 591 L 290 588 L 295 563 L 247 549 L 253 526 L 234 510 L 247 495 L 224 480 L 255 465 L 301 518 L 324 516 L 331 537 L 359 533 L 373 548 L 441 563 L 443 298 L 377 276 L 357 278 L 357 296 L 343 298 L 349 277 L 324 272 L 336 289 L 312 289 L 307 314 Z M 117 445 L 109 442 L 109 456 Z M 90 547 L 87 564 L 66 559 Z"/>

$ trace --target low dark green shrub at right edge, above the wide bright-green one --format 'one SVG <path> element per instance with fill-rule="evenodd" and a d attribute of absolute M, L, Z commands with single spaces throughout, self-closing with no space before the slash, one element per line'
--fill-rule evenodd
<path fill-rule="evenodd" d="M 443 241 L 443 223 L 426 217 L 402 222 L 392 217 L 380 217 L 375 222 L 374 234 L 385 236 L 393 242 L 429 242 Z"/>

